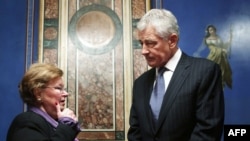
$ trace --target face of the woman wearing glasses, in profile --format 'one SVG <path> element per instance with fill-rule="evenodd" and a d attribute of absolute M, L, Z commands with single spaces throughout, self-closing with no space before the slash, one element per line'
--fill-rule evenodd
<path fill-rule="evenodd" d="M 61 77 L 52 79 L 40 92 L 40 109 L 57 119 L 56 104 L 64 109 L 68 93 L 64 90 L 64 83 Z"/>

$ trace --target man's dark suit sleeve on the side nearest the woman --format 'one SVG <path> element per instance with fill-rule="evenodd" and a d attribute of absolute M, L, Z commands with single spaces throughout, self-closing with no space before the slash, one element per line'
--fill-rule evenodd
<path fill-rule="evenodd" d="M 136 83 L 136 82 L 135 82 Z M 132 106 L 130 109 L 130 116 L 129 116 L 129 130 L 128 130 L 128 141 L 140 141 L 141 140 L 141 132 L 139 128 L 139 119 L 137 117 L 137 113 L 135 110 L 135 95 L 136 94 L 136 84 L 133 87 L 133 96 L 132 96 Z"/>

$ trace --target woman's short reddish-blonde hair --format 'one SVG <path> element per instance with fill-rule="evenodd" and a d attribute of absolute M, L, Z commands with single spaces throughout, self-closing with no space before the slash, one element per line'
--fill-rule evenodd
<path fill-rule="evenodd" d="M 18 88 L 24 103 L 31 106 L 38 104 L 34 90 L 44 88 L 50 80 L 62 77 L 63 71 L 53 64 L 34 63 L 24 74 Z"/>

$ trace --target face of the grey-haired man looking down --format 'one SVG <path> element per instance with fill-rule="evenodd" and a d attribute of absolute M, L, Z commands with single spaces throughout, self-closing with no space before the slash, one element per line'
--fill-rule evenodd
<path fill-rule="evenodd" d="M 164 66 L 173 56 L 177 49 L 176 43 L 173 44 L 170 39 L 171 36 L 172 35 L 167 39 L 163 39 L 156 34 L 155 29 L 151 26 L 138 32 L 138 39 L 142 45 L 142 55 L 144 55 L 149 66 Z"/>

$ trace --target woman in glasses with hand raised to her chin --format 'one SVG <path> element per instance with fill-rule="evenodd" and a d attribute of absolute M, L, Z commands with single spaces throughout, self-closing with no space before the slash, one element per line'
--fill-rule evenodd
<path fill-rule="evenodd" d="M 54 65 L 31 65 L 19 85 L 28 110 L 15 117 L 7 141 L 77 140 L 79 124 L 74 112 L 64 108 L 69 94 L 62 76 L 63 71 Z"/>

